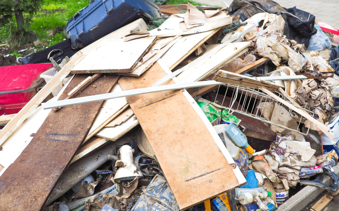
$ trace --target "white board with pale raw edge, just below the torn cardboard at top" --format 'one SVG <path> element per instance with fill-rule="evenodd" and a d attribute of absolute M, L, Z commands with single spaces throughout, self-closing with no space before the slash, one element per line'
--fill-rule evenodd
<path fill-rule="evenodd" d="M 221 28 L 196 34 L 183 35 L 182 39 L 174 44 L 164 55 L 161 56 L 161 63 L 164 63 L 169 70 L 173 70 L 187 56 L 192 54 L 199 46 L 207 41 Z"/>

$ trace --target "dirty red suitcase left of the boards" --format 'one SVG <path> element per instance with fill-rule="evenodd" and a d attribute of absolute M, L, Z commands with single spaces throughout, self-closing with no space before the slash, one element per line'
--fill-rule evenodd
<path fill-rule="evenodd" d="M 40 74 L 52 67 L 51 63 L 0 67 L 0 115 L 18 113 L 44 86 Z"/>

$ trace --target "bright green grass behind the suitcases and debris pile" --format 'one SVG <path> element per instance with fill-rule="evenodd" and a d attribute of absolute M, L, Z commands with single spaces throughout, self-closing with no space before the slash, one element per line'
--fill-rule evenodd
<path fill-rule="evenodd" d="M 203 5 L 191 0 L 170 0 L 167 4 L 187 4 L 187 2 L 197 6 Z M 88 3 L 88 0 L 44 0 L 41 9 L 33 16 L 29 29 L 36 32 L 43 47 L 55 45 L 65 40 L 63 28 L 68 20 Z M 0 27 L 1 42 L 10 43 L 12 47 L 13 44 L 14 46 L 18 45 L 18 43 L 8 40 L 14 30 L 15 20 L 13 20 L 13 23 Z M 43 47 L 40 47 L 40 49 Z M 39 47 L 37 48 L 39 49 Z M 13 52 L 13 54 L 16 53 Z"/>

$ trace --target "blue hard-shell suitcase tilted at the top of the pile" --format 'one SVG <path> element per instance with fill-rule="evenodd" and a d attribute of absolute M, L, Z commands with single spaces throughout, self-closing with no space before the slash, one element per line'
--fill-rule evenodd
<path fill-rule="evenodd" d="M 159 17 L 152 0 L 96 0 L 68 21 L 64 33 L 78 49 L 139 18 L 147 22 Z"/>

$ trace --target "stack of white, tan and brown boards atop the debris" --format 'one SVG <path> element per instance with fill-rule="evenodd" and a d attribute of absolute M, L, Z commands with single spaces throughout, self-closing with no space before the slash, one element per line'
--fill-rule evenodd
<path fill-rule="evenodd" d="M 203 81 L 212 79 L 213 73 L 246 52 L 250 45 L 211 44 L 211 40 L 215 41 L 213 35 L 220 30 L 222 27 L 124 41 L 125 34 L 146 31 L 140 19 L 80 50 L 0 132 L 0 209 L 42 209 L 70 163 L 118 140 L 139 123 L 180 209 L 244 184 L 246 180 L 230 153 L 184 88 L 194 87 L 194 83 L 213 84 L 194 93 L 199 95 L 223 83 L 263 91 L 276 91 L 279 87 L 226 71 L 214 76 L 220 82 Z M 187 57 L 197 49 L 195 60 L 188 61 Z M 263 60 L 255 65 L 267 59 Z M 172 73 L 181 62 L 186 64 Z M 74 77 L 48 103 L 84 98 L 89 99 L 87 103 L 53 110 L 38 107 L 69 73 Z M 140 91 L 153 89 L 157 82 L 174 88 Z M 127 90 L 134 94 L 91 100 L 93 96 Z"/>

